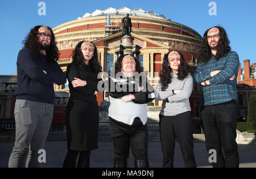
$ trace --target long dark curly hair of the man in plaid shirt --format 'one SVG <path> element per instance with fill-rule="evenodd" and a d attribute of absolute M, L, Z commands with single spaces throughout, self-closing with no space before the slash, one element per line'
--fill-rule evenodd
<path fill-rule="evenodd" d="M 213 27 L 211 27 L 213 28 Z M 200 55 L 199 55 L 199 60 L 203 60 L 205 63 L 209 61 L 211 55 L 212 55 L 212 50 L 210 49 L 210 46 L 208 44 L 208 31 L 211 29 L 209 28 L 205 33 L 204 37 L 201 41 L 201 49 L 200 49 Z M 226 31 L 223 27 L 216 26 L 215 28 L 218 28 L 220 31 L 220 39 L 218 40 L 218 45 L 217 45 L 217 54 L 216 54 L 216 59 L 220 59 L 221 57 L 224 57 L 225 54 L 229 53 L 231 48 L 229 46 L 230 41 L 228 39 L 228 35 L 226 34 Z"/>

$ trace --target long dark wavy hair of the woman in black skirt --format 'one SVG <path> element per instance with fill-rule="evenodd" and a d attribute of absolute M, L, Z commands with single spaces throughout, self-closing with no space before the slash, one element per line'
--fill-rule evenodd
<path fill-rule="evenodd" d="M 85 41 L 80 41 L 77 45 L 75 50 L 73 51 L 73 56 L 72 56 L 72 63 L 76 66 L 79 66 L 80 68 L 82 68 L 85 63 L 85 59 L 84 59 L 84 55 L 82 54 L 81 51 L 81 45 L 82 43 Z M 90 42 L 93 44 L 93 42 Z M 90 68 L 90 70 L 92 70 L 94 73 L 98 74 L 102 71 L 102 67 L 100 65 L 100 63 L 98 62 L 98 52 L 97 52 L 97 48 L 96 46 L 93 44 L 94 46 L 94 53 L 93 53 L 93 57 L 89 60 L 88 66 Z"/>

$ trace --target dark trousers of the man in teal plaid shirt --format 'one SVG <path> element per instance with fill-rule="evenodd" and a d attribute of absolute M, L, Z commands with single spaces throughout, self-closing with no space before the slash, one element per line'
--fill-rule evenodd
<path fill-rule="evenodd" d="M 237 117 L 237 103 L 234 100 L 228 103 L 205 106 L 201 110 L 207 151 L 209 153 L 209 150 L 213 149 L 217 152 L 217 163 L 212 163 L 214 168 L 239 167 L 236 143 Z M 225 158 L 222 154 L 222 148 Z"/>

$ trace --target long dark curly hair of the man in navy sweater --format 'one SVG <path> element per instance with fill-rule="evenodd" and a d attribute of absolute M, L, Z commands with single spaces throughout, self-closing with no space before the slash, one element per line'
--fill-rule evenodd
<path fill-rule="evenodd" d="M 23 40 L 24 48 L 31 49 L 35 56 L 42 55 L 42 53 L 40 52 L 41 44 L 38 41 L 38 30 L 40 27 L 44 27 L 44 25 L 37 25 L 33 27 L 30 33 L 28 33 L 26 39 Z M 49 44 L 49 48 L 46 50 L 46 59 L 49 63 L 54 63 L 59 60 L 60 52 L 57 48 L 55 35 L 52 29 L 50 27 L 47 28 L 49 29 L 49 31 L 51 31 L 52 39 L 51 43 Z"/>

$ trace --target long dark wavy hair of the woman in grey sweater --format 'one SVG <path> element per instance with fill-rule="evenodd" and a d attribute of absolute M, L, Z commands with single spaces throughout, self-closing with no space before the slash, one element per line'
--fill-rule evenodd
<path fill-rule="evenodd" d="M 169 66 L 169 59 L 168 59 L 169 53 L 170 52 L 168 52 L 163 58 L 162 70 L 160 72 L 160 83 L 162 84 L 162 91 L 166 90 L 168 88 L 168 84 L 172 82 L 172 77 L 171 77 L 172 69 Z M 183 54 L 180 52 L 177 52 L 177 53 L 180 54 L 180 66 L 177 73 L 177 79 L 183 80 L 188 76 L 188 73 L 189 73 L 189 70 L 191 70 L 191 67 L 185 61 Z"/>

